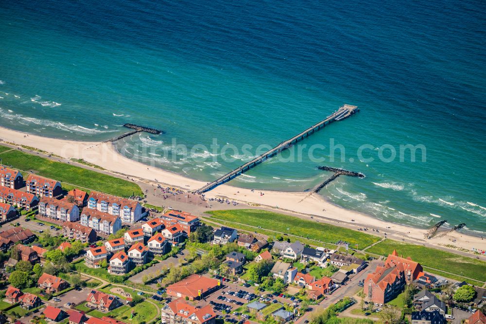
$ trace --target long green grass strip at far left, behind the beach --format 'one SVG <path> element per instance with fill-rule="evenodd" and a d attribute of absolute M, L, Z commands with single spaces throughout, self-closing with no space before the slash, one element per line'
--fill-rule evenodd
<path fill-rule="evenodd" d="M 0 147 L 5 147 L 1 146 Z M 99 190 L 117 196 L 141 195 L 140 187 L 127 180 L 87 170 L 68 163 L 55 162 L 37 155 L 24 153 L 19 150 L 1 153 L 2 163 L 13 165 L 23 171 L 25 177 L 28 171 L 34 170 L 43 177 L 52 178 L 72 185 Z"/>

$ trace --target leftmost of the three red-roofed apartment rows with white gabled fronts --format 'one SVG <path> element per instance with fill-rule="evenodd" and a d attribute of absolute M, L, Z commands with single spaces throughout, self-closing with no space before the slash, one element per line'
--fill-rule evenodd
<path fill-rule="evenodd" d="M 79 220 L 79 208 L 66 200 L 43 196 L 39 201 L 39 215 L 62 222 Z"/>

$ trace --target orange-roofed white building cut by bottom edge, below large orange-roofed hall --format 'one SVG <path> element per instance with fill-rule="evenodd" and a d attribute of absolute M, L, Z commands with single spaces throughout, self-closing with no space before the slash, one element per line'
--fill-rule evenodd
<path fill-rule="evenodd" d="M 216 314 L 211 306 L 194 307 L 179 298 L 162 308 L 162 323 L 171 324 L 214 324 Z"/>

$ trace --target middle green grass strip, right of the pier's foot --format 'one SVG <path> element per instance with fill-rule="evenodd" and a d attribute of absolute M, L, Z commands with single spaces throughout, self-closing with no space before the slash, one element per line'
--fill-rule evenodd
<path fill-rule="evenodd" d="M 261 226 L 263 229 L 309 237 L 310 239 L 334 244 L 339 240 L 350 243 L 352 247 L 358 244 L 358 249 L 378 242 L 380 238 L 371 234 L 349 230 L 335 225 L 317 223 L 294 216 L 278 214 L 257 209 L 238 209 L 207 212 L 212 218 L 228 222 L 242 223 L 251 226 Z M 290 230 L 288 231 L 287 228 Z M 260 231 L 259 231 L 260 232 Z"/>

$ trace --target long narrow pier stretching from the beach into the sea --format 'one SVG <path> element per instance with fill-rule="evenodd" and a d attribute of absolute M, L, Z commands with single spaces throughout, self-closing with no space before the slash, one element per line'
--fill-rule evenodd
<path fill-rule="evenodd" d="M 263 161 L 268 160 L 272 156 L 282 152 L 283 150 L 286 150 L 289 148 L 291 145 L 296 144 L 297 142 L 302 141 L 304 138 L 308 137 L 309 135 L 313 134 L 315 131 L 321 129 L 322 127 L 329 125 L 333 121 L 341 121 L 343 119 L 346 119 L 347 117 L 355 114 L 358 112 L 359 109 L 357 106 L 351 106 L 351 105 L 343 105 L 341 106 L 338 110 L 334 111 L 332 114 L 330 114 L 326 119 L 323 121 L 320 121 L 319 123 L 307 128 L 303 132 L 295 135 L 294 137 L 288 139 L 287 141 L 283 141 L 282 143 L 278 144 L 274 148 L 266 151 L 265 153 L 261 154 L 260 156 L 254 158 L 250 162 L 244 163 L 242 166 L 232 170 L 231 172 L 226 173 L 224 176 L 209 182 L 202 188 L 198 189 L 198 193 L 203 193 L 206 191 L 211 190 L 212 188 L 225 183 L 231 179 L 234 179 L 235 177 L 238 177 L 242 173 L 248 171 L 249 169 L 253 168 L 257 164 L 260 164 Z"/>

